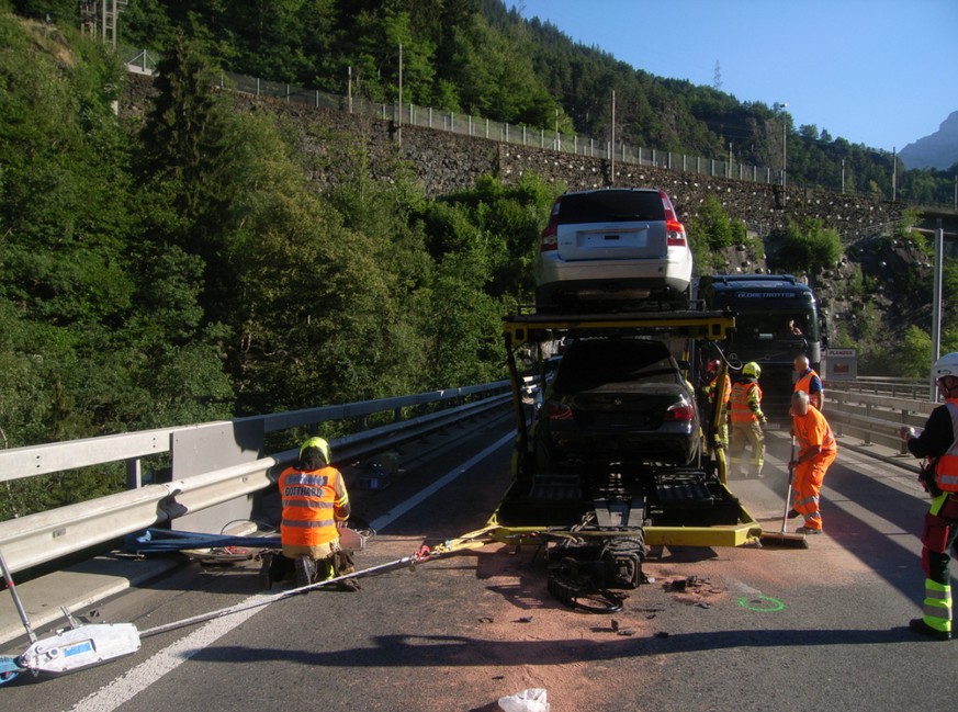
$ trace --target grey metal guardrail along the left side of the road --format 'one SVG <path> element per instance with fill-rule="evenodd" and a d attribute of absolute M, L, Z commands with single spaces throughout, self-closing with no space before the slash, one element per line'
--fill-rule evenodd
<path fill-rule="evenodd" d="M 462 403 L 463 398 L 471 396 L 483 397 Z M 312 427 L 330 420 L 364 419 L 365 416 L 390 410 L 393 410 L 398 418 L 402 409 L 410 406 L 441 402 L 454 404 L 437 412 L 360 430 L 331 440 L 330 445 L 337 461 L 346 462 L 393 448 L 401 442 L 497 408 L 510 400 L 509 382 L 499 381 L 465 388 L 309 408 L 233 421 L 18 448 L 0 451 L 0 481 L 72 470 L 79 464 L 136 462 L 147 455 L 172 452 L 180 442 L 189 449 L 189 455 L 196 455 L 191 460 L 199 459 L 202 462 L 204 453 L 194 452 L 198 442 L 206 441 L 206 448 L 212 451 L 205 453 L 207 459 L 210 456 L 215 459 L 221 452 L 228 455 L 224 450 L 224 433 L 230 437 L 234 432 L 273 432 Z M 247 462 L 210 467 L 207 472 L 189 473 L 182 477 L 177 475 L 174 456 L 172 482 L 150 484 L 0 522 L 0 550 L 3 551 L 12 570 L 31 568 L 115 540 L 124 534 L 259 491 L 272 484 L 275 470 L 293 460 L 296 452 L 296 449 L 292 449 L 264 457 L 253 452 Z"/>

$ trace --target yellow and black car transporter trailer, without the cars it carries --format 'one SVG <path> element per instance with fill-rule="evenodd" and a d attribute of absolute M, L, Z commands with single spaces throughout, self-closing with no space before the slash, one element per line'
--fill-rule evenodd
<path fill-rule="evenodd" d="M 635 588 L 643 580 L 649 547 L 740 546 L 757 543 L 762 528 L 726 484 L 725 453 L 717 442 L 725 419 L 722 361 L 719 393 L 703 423 L 696 461 L 686 466 L 642 463 L 579 471 L 540 471 L 530 436 L 529 388 L 517 352 L 528 352 L 546 386 L 549 360 L 542 344 L 562 338 L 641 337 L 667 341 L 687 362 L 702 342 L 720 346 L 735 327 L 729 312 L 651 312 L 600 315 L 516 314 L 504 319 L 517 438 L 512 479 L 488 521 L 492 536 L 545 546 L 549 588 L 570 606 L 596 612 L 621 608 L 609 589 Z M 532 418 L 538 416 L 532 408 Z"/>

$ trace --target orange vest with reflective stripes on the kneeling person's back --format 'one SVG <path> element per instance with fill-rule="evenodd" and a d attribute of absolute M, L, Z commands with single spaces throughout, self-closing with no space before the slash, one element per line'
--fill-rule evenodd
<path fill-rule="evenodd" d="M 279 479 L 283 499 L 280 525 L 283 544 L 317 546 L 339 536 L 333 516 L 337 477 L 340 474 L 335 467 L 314 472 L 301 472 L 294 467 L 283 471 Z"/>

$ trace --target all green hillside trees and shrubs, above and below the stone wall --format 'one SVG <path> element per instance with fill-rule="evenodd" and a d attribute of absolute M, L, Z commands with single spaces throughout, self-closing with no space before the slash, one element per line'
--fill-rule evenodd
<path fill-rule="evenodd" d="M 563 126 L 601 132 L 598 98 L 615 88 L 630 140 L 705 152 L 734 125 L 766 137 L 755 151 L 769 161 L 775 122 L 788 121 L 636 72 L 494 0 L 133 0 L 124 39 L 164 63 L 146 114 L 121 120 L 126 74 L 75 11 L 0 0 L 2 448 L 503 376 L 499 319 L 530 301 L 532 250 L 562 187 L 483 178 L 427 200 L 401 161 L 373 180 L 354 137 L 323 134 L 325 160 L 348 170 L 319 192 L 277 114 L 237 111 L 213 89 L 221 66 L 343 93 L 352 66 L 357 90 L 391 100 L 402 42 L 416 103 L 549 126 L 557 111 Z M 594 113 L 587 86 L 599 87 Z M 807 133 L 815 150 L 843 146 Z M 871 165 L 874 151 L 848 150 Z M 742 239 L 713 208 L 691 228 L 699 256 Z M 822 239 L 813 227 L 794 228 L 799 248 Z M 899 237 L 888 240 L 869 259 Z M 849 274 L 848 298 L 878 291 Z M 901 281 L 909 298 L 924 294 L 908 265 Z M 887 336 L 876 324 L 871 307 L 842 337 Z M 912 336 L 921 363 L 927 335 Z M 0 519 L 121 487 L 123 473 L 43 479 L 4 485 Z"/>

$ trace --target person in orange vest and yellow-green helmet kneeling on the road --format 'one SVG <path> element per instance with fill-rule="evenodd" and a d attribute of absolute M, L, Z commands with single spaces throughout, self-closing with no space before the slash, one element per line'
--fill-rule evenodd
<path fill-rule="evenodd" d="M 349 495 L 340 472 L 329 464 L 329 443 L 309 438 L 300 459 L 278 481 L 283 500 L 280 540 L 292 558 L 296 586 L 330 578 L 340 552 L 339 528 L 349 518 Z"/>

